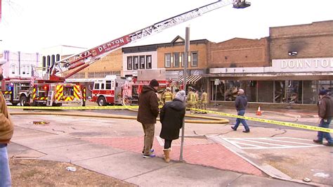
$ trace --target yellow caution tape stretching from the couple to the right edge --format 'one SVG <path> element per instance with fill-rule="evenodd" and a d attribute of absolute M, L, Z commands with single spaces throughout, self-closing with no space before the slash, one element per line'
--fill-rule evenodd
<path fill-rule="evenodd" d="M 296 123 L 291 123 L 291 122 L 280 122 L 280 121 L 275 121 L 275 120 L 265 120 L 262 118 L 257 118 L 257 117 L 245 117 L 245 116 L 240 116 L 240 115 L 232 115 L 224 112 L 215 112 L 211 110 L 200 110 L 196 108 L 190 108 L 190 110 L 197 110 L 200 112 L 207 112 L 211 114 L 216 114 L 216 115 L 223 115 L 223 116 L 228 116 L 228 117 L 236 117 L 236 118 L 242 118 L 245 120 L 252 120 L 256 122 L 264 122 L 264 123 L 270 123 L 270 124 L 279 124 L 287 127 L 296 127 L 300 129 L 308 129 L 308 130 L 313 130 L 313 131 L 324 131 L 328 133 L 333 133 L 333 129 L 328 129 L 328 128 L 323 128 L 323 127 L 315 127 L 307 124 L 296 124 Z"/>

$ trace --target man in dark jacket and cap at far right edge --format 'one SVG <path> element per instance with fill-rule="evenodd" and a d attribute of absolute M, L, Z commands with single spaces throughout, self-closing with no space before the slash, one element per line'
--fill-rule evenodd
<path fill-rule="evenodd" d="M 327 90 L 321 90 L 319 92 L 319 103 L 318 103 L 318 116 L 320 117 L 319 127 L 329 128 L 329 124 L 332 122 L 333 117 L 333 101 L 328 95 Z M 318 131 L 318 139 L 313 140 L 315 143 L 322 144 L 322 139 L 325 138 L 327 143 L 325 146 L 333 146 L 332 137 L 329 132 Z"/>

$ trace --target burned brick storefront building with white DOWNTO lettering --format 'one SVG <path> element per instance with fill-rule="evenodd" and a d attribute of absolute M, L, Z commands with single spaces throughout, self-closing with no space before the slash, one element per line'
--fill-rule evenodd
<path fill-rule="evenodd" d="M 270 27 L 263 39 L 211 44 L 204 75 L 211 100 L 216 92 L 216 101 L 234 101 L 241 87 L 254 103 L 317 103 L 318 91 L 333 87 L 332 27 L 333 21 Z"/>

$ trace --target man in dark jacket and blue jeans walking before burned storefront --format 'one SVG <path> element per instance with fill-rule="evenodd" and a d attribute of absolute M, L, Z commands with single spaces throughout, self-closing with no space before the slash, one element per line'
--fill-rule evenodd
<path fill-rule="evenodd" d="M 238 89 L 237 91 L 235 107 L 237 110 L 237 115 L 244 116 L 245 109 L 247 108 L 247 96 L 244 95 L 243 89 Z M 240 125 L 240 123 L 242 123 L 245 128 L 243 132 L 249 132 L 249 125 L 247 125 L 247 121 L 242 118 L 237 118 L 235 126 L 231 127 L 231 129 L 237 131 L 238 125 Z"/>

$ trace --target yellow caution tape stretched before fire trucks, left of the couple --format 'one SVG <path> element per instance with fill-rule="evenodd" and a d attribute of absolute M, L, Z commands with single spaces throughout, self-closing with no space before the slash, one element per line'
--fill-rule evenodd
<path fill-rule="evenodd" d="M 111 110 L 111 109 L 136 109 L 138 106 L 8 106 L 12 109 L 39 109 L 39 110 Z"/>

